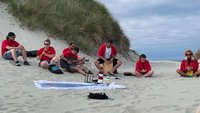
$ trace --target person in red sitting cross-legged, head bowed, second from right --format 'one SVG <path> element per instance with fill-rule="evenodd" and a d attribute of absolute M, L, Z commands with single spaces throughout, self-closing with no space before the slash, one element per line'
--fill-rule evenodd
<path fill-rule="evenodd" d="M 136 62 L 135 72 L 133 75 L 136 77 L 151 77 L 154 71 L 151 69 L 149 61 L 146 59 L 145 54 L 141 54 L 139 60 Z"/>

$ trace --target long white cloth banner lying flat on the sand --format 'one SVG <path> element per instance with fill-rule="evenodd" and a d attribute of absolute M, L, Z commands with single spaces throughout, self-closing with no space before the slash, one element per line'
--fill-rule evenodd
<path fill-rule="evenodd" d="M 116 85 L 114 82 L 107 84 L 83 83 L 83 82 L 53 82 L 47 80 L 33 81 L 39 89 L 61 89 L 61 90 L 95 90 L 95 89 L 124 89 L 124 85 Z"/>

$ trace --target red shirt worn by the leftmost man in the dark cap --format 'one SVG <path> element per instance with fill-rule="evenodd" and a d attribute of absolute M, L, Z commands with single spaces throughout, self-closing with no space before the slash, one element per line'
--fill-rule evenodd
<path fill-rule="evenodd" d="M 8 40 L 4 40 L 2 43 L 1 43 L 1 55 L 3 56 L 4 53 L 6 51 L 8 51 L 8 49 L 6 48 L 7 46 L 10 46 L 10 47 L 18 47 L 20 44 L 17 42 L 17 41 L 8 41 Z"/>

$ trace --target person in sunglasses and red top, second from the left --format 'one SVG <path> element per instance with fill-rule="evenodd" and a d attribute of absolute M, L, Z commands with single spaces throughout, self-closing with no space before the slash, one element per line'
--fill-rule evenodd
<path fill-rule="evenodd" d="M 45 69 L 48 69 L 49 64 L 52 63 L 52 58 L 56 56 L 56 51 L 50 44 L 51 41 L 46 39 L 44 41 L 44 47 L 40 48 L 37 53 L 37 58 L 40 60 L 39 66 Z"/>

